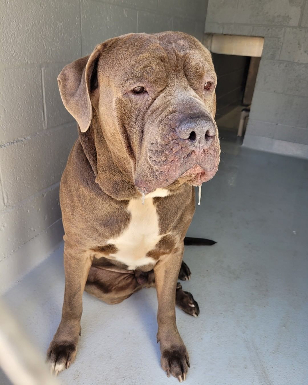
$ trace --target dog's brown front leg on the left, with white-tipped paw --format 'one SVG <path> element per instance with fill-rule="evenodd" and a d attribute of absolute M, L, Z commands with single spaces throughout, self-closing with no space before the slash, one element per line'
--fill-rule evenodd
<path fill-rule="evenodd" d="M 81 333 L 82 293 L 92 260 L 80 250 L 64 246 L 65 291 L 62 318 L 57 332 L 47 350 L 47 360 L 52 372 L 57 375 L 69 368 L 77 353 Z"/>

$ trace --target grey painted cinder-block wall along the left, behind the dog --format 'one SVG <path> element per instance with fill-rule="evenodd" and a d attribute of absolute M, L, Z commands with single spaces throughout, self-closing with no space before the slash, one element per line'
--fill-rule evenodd
<path fill-rule="evenodd" d="M 0 291 L 62 239 L 59 183 L 77 138 L 57 75 L 104 40 L 181 30 L 202 39 L 203 0 L 10 0 L 0 4 Z"/>

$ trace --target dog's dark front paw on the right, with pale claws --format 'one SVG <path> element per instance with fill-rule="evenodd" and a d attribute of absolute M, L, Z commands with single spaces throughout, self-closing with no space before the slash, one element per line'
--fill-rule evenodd
<path fill-rule="evenodd" d="M 164 349 L 161 354 L 161 367 L 168 377 L 172 374 L 179 382 L 185 381 L 190 367 L 185 345 L 171 346 L 169 349 Z"/>

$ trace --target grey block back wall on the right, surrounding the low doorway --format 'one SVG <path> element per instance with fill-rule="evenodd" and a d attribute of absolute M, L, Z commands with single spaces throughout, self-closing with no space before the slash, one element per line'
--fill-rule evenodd
<path fill-rule="evenodd" d="M 308 0 L 209 0 L 205 32 L 264 37 L 244 146 L 308 158 Z"/>

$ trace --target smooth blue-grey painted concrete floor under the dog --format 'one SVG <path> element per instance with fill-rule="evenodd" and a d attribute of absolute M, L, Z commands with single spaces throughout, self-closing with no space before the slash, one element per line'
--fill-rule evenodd
<path fill-rule="evenodd" d="M 177 310 L 191 358 L 187 385 L 308 384 L 308 161 L 240 147 L 221 130 L 217 175 L 203 185 L 189 235 L 184 282 L 200 316 Z M 42 352 L 60 321 L 62 249 L 4 299 Z M 142 290 L 119 305 L 84 294 L 77 359 L 59 375 L 70 385 L 175 384 L 160 367 L 157 300 Z M 0 383 L 7 385 L 4 375 Z"/>

